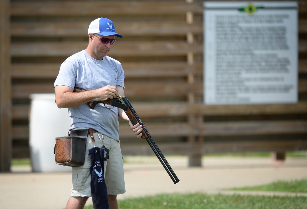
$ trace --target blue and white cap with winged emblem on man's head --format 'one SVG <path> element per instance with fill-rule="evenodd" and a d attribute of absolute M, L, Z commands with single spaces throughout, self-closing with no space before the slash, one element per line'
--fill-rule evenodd
<path fill-rule="evenodd" d="M 119 38 L 122 38 L 122 35 L 115 32 L 113 22 L 103 17 L 100 17 L 91 22 L 90 26 L 88 27 L 88 34 L 89 33 L 97 33 L 103 36 L 115 35 Z"/>

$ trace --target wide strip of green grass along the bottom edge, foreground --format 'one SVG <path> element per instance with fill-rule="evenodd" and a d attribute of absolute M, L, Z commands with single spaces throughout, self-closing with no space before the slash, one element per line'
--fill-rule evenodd
<path fill-rule="evenodd" d="M 307 208 L 305 197 L 264 197 L 240 195 L 208 195 L 203 193 L 191 194 L 160 194 L 151 197 L 120 200 L 121 209 L 290 209 Z"/>

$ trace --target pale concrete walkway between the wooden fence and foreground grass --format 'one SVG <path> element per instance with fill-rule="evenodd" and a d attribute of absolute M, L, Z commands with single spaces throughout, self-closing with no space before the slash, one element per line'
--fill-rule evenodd
<path fill-rule="evenodd" d="M 270 158 L 206 157 L 202 160 L 202 167 L 188 167 L 185 156 L 166 156 L 166 159 L 180 179 L 177 184 L 173 183 L 155 156 L 124 157 L 126 193 L 119 195 L 118 199 L 175 192 L 229 194 L 234 192 L 222 189 L 307 179 L 306 158 L 275 162 Z M 12 173 L 0 173 L 0 208 L 62 209 L 70 196 L 71 187 L 70 172 L 33 173 L 31 167 L 12 167 Z M 87 204 L 91 204 L 90 199 Z"/>

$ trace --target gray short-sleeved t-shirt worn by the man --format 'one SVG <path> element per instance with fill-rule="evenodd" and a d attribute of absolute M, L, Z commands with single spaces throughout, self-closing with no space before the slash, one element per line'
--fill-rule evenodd
<path fill-rule="evenodd" d="M 60 67 L 54 86 L 63 85 L 83 90 L 98 89 L 103 86 L 124 86 L 124 70 L 119 61 L 105 56 L 96 60 L 85 50 L 68 57 Z M 119 141 L 119 121 L 117 108 L 109 109 L 97 104 L 91 109 L 87 104 L 68 108 L 72 119 L 70 129 L 93 128 Z"/>

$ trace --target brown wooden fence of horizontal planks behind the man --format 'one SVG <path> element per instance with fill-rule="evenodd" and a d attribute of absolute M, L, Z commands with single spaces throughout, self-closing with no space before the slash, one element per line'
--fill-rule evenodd
<path fill-rule="evenodd" d="M 111 19 L 124 36 L 109 56 L 122 63 L 125 94 L 163 153 L 186 154 L 191 166 L 199 166 L 201 154 L 209 152 L 307 149 L 305 1 L 298 2 L 299 102 L 227 106 L 202 103 L 202 1 L 114 2 L 10 2 L 11 63 L 1 71 L 11 69 L 6 76 L 12 98 L 1 98 L 1 107 L 11 99 L 7 122 L 14 158 L 29 157 L 29 95 L 54 92 L 60 64 L 86 48 L 88 24 L 100 16 Z M 124 155 L 152 154 L 126 123 L 120 122 L 120 136 Z"/>

